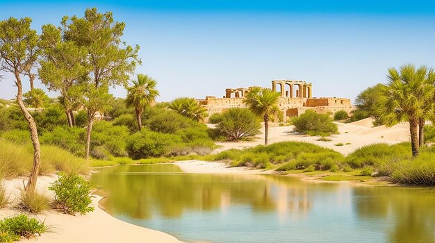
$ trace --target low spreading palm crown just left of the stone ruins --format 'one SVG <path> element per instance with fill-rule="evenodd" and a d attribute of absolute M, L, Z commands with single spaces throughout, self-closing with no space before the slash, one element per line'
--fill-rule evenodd
<path fill-rule="evenodd" d="M 207 109 L 193 98 L 174 99 L 167 107 L 195 121 L 204 121 L 204 118 L 207 117 Z"/>

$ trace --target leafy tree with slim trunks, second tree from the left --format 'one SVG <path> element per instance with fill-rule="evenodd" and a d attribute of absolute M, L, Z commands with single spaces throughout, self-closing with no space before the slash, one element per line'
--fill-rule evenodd
<path fill-rule="evenodd" d="M 85 80 L 89 73 L 86 63 L 88 52 L 74 41 L 65 40 L 65 31 L 66 19 L 63 19 L 59 28 L 52 24 L 42 26 L 38 74 L 49 90 L 60 92 L 59 101 L 65 108 L 68 125 L 74 126 L 73 110 L 81 97 L 81 90 L 76 85 Z"/>

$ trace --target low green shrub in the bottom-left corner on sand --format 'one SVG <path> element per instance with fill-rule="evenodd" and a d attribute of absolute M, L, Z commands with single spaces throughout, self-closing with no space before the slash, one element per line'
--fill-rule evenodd
<path fill-rule="evenodd" d="M 29 239 L 45 233 L 47 228 L 43 222 L 24 214 L 7 217 L 0 221 L 0 242 L 17 241 L 20 237 Z"/>

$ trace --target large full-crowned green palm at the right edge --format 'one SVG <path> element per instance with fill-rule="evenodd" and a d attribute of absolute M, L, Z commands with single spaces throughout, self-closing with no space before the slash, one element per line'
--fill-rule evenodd
<path fill-rule="evenodd" d="M 402 121 L 409 122 L 412 155 L 418 156 L 420 140 L 424 140 L 425 119 L 431 118 L 434 106 L 434 74 L 432 69 L 411 64 L 402 65 L 399 71 L 388 69 L 388 85 L 381 97 L 381 120 L 387 126 Z M 420 137 L 420 139 L 419 139 Z"/>

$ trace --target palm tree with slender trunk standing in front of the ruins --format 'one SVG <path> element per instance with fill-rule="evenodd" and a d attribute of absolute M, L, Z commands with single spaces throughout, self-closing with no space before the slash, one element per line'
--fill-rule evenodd
<path fill-rule="evenodd" d="M 247 93 L 243 103 L 258 117 L 264 120 L 264 144 L 268 144 L 269 120 L 277 115 L 279 108 L 279 93 L 261 87 L 252 87 Z"/>

